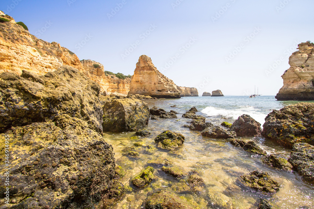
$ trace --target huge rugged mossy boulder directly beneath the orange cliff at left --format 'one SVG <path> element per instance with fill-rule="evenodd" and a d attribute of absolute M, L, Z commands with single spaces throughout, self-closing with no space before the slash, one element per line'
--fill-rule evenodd
<path fill-rule="evenodd" d="M 102 132 L 100 86 L 77 69 L 63 65 L 44 76 L 3 72 L 0 78 L 0 133 L 60 114 L 80 118 Z"/>

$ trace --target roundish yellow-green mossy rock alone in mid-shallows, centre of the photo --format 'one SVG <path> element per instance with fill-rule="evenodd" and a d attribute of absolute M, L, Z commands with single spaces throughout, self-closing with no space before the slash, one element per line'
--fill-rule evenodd
<path fill-rule="evenodd" d="M 184 143 L 184 139 L 182 134 L 168 130 L 160 133 L 154 140 L 157 143 L 157 147 L 174 150 Z"/>

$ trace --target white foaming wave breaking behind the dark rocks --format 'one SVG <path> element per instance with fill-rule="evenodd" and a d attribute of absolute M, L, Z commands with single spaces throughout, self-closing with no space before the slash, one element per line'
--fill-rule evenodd
<path fill-rule="evenodd" d="M 251 106 L 240 106 L 237 109 L 222 109 L 216 107 L 206 107 L 201 112 L 207 114 L 208 116 L 222 116 L 222 117 L 232 117 L 234 120 L 238 119 L 239 116 L 243 114 L 250 115 L 254 118 L 257 122 L 261 123 L 262 125 L 265 123 L 265 118 L 267 114 L 263 112 L 259 112 L 259 109 L 256 109 Z"/>

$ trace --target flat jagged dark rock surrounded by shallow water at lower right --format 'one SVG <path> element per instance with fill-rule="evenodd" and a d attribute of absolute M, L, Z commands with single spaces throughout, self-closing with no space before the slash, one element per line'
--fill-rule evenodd
<path fill-rule="evenodd" d="M 240 176 L 241 181 L 249 187 L 265 193 L 279 191 L 279 183 L 271 178 L 267 172 L 252 171 L 250 174 Z"/>

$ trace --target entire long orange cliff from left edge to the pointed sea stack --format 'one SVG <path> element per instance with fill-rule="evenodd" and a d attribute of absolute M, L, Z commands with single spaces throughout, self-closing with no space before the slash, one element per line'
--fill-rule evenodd
<path fill-rule="evenodd" d="M 45 75 L 62 65 L 70 65 L 99 83 L 101 92 L 127 94 L 129 91 L 130 78 L 120 79 L 115 75 L 107 75 L 100 63 L 91 60 L 81 62 L 67 48 L 57 42 L 49 43 L 36 38 L 1 11 L 0 17 L 9 20 L 0 22 L 0 73 L 14 72 L 21 75 L 26 70 L 36 75 Z M 100 67 L 95 68 L 94 64 Z"/>

